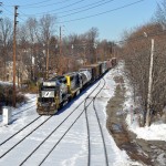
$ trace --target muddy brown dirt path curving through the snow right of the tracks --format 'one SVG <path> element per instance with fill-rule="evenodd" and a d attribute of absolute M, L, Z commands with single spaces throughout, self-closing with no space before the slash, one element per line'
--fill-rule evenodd
<path fill-rule="evenodd" d="M 165 142 L 147 142 L 137 139 L 136 135 L 127 129 L 125 118 L 126 114 L 123 112 L 123 104 L 125 102 L 125 87 L 122 76 L 114 77 L 116 82 L 116 90 L 114 97 L 107 104 L 107 129 L 114 137 L 116 145 L 126 151 L 133 160 L 137 160 L 143 165 L 149 166 L 165 166 L 160 163 L 160 156 L 166 152 Z M 165 156 L 166 157 L 166 156 Z M 166 162 L 166 160 L 165 160 Z"/>

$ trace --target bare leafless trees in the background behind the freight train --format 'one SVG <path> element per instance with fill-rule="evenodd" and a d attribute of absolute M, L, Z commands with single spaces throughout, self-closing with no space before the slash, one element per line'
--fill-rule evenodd
<path fill-rule="evenodd" d="M 27 68 L 29 81 L 75 71 L 80 65 L 111 58 L 113 42 L 98 41 L 98 30 L 63 37 L 63 27 L 55 31 L 56 18 L 50 14 L 29 18 L 17 24 L 17 73 Z M 8 62 L 12 62 L 13 27 L 8 18 L 0 21 L 0 80 L 8 80 Z M 48 75 L 46 75 L 48 74 Z"/>

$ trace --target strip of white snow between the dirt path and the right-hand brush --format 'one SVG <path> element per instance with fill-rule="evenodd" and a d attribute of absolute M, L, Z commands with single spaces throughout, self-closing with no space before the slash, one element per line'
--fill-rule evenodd
<path fill-rule="evenodd" d="M 123 64 L 120 66 L 121 71 L 123 71 Z M 120 73 L 122 74 L 122 73 Z M 163 122 L 154 123 L 149 127 L 139 127 L 138 117 L 136 114 L 133 114 L 133 107 L 137 105 L 134 104 L 133 101 L 133 89 L 129 85 L 127 79 L 125 79 L 125 87 L 126 87 L 126 101 L 124 103 L 124 111 L 127 111 L 126 123 L 128 125 L 128 129 L 137 135 L 137 138 L 143 138 L 146 141 L 164 141 L 166 142 L 166 124 Z M 132 107 L 133 106 L 133 107 Z"/>

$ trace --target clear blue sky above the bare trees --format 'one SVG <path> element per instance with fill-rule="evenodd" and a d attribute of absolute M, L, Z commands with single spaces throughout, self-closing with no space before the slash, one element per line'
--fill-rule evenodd
<path fill-rule="evenodd" d="M 63 27 L 63 35 L 84 33 L 92 27 L 98 29 L 98 39 L 121 40 L 124 30 L 148 22 L 162 0 L 0 0 L 1 17 L 13 18 L 13 7 L 19 7 L 18 21 L 25 14 L 37 18 L 44 13 L 58 17 L 56 29 Z M 139 2 L 138 2 L 139 1 Z M 137 3 L 135 3 L 137 2 Z M 135 4 L 132 4 L 135 3 Z M 128 7 L 127 7 L 128 6 Z M 92 17 L 91 17 L 92 15 Z M 29 15 L 31 17 L 31 15 Z M 86 18 L 91 17 L 91 18 Z M 86 18 L 86 19 L 81 19 Z M 76 21 L 71 21 L 80 19 Z M 69 21 L 69 22 L 68 22 Z M 56 32 L 59 33 L 59 32 Z"/>

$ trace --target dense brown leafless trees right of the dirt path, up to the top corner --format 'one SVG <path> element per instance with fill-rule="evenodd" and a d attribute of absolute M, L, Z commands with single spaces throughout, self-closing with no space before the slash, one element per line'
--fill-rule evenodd
<path fill-rule="evenodd" d="M 121 58 L 125 60 L 126 75 L 133 86 L 133 100 L 144 112 L 144 123 L 151 125 L 166 107 L 166 0 L 158 4 L 149 23 L 124 33 Z M 153 41 L 154 40 L 154 50 Z M 149 66 L 153 54 L 152 90 Z M 148 95 L 151 102 L 148 102 Z M 149 104 L 149 113 L 147 112 Z"/>

